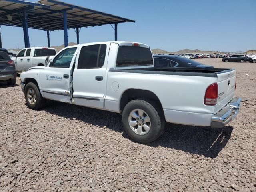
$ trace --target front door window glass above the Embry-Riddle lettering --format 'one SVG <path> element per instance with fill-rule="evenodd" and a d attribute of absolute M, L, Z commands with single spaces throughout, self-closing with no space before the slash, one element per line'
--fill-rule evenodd
<path fill-rule="evenodd" d="M 76 47 L 67 48 L 60 52 L 52 61 L 50 67 L 69 68 L 72 58 L 76 52 Z"/>

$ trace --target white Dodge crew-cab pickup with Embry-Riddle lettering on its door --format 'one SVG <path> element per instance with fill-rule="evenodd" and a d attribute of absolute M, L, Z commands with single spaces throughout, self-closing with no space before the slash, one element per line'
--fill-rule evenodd
<path fill-rule="evenodd" d="M 223 127 L 238 114 L 236 70 L 154 67 L 149 46 L 97 42 L 62 49 L 21 74 L 28 106 L 46 99 L 122 114 L 137 142 L 156 140 L 165 122 Z"/>

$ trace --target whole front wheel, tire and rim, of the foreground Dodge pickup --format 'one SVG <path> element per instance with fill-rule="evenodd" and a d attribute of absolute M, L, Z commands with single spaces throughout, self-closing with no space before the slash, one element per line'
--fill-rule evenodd
<path fill-rule="evenodd" d="M 38 87 L 34 83 L 28 83 L 25 86 L 24 93 L 29 108 L 34 110 L 44 108 L 46 99 L 42 97 Z"/>

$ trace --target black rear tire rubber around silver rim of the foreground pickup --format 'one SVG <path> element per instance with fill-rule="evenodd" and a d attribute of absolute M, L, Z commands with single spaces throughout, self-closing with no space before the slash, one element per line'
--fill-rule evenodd
<path fill-rule="evenodd" d="M 151 124 L 148 133 L 140 135 L 134 132 L 130 127 L 129 115 L 130 112 L 132 112 L 132 110 L 134 109 L 142 109 L 148 114 Z M 165 127 L 164 114 L 161 108 L 151 100 L 146 101 L 137 99 L 132 100 L 128 104 L 126 104 L 122 112 L 122 122 L 126 133 L 133 140 L 140 143 L 149 143 L 156 140 L 162 134 Z"/>

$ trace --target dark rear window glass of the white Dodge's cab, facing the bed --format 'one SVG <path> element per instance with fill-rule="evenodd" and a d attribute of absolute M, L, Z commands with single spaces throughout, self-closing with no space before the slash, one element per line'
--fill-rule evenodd
<path fill-rule="evenodd" d="M 120 46 L 116 66 L 153 65 L 153 56 L 149 48 Z"/>

